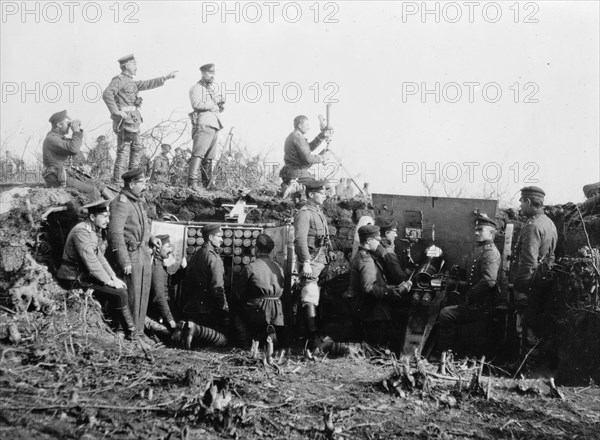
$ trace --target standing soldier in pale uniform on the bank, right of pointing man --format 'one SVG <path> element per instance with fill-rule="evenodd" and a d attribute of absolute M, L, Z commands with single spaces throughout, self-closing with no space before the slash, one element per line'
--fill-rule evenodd
<path fill-rule="evenodd" d="M 218 133 L 223 128 L 219 115 L 225 109 L 225 100 L 214 85 L 215 65 L 205 64 L 200 67 L 200 71 L 202 79 L 190 89 L 193 109 L 190 118 L 194 145 L 188 168 L 188 185 L 194 191 L 199 191 L 201 184 L 208 186 L 212 178 Z"/>

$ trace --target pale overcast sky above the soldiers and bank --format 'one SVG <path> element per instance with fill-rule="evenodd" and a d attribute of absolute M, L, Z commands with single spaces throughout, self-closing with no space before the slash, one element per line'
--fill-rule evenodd
<path fill-rule="evenodd" d="M 1 3 L 2 145 L 31 136 L 28 161 L 56 111 L 110 133 L 99 93 L 134 53 L 137 79 L 179 71 L 142 92 L 143 128 L 185 118 L 212 62 L 223 136 L 282 161 L 294 116 L 312 138 L 333 101 L 332 150 L 372 192 L 563 203 L 600 180 L 597 1 Z"/>

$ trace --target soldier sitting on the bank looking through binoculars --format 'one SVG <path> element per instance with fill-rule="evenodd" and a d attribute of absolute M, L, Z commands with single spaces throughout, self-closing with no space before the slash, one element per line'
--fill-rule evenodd
<path fill-rule="evenodd" d="M 112 198 L 102 182 L 94 183 L 91 178 L 86 178 L 67 165 L 69 157 L 76 156 L 81 150 L 83 142 L 81 121 L 71 121 L 67 111 L 63 110 L 50 116 L 49 122 L 52 124 L 52 130 L 46 135 L 42 146 L 44 165 L 42 176 L 46 186 L 74 188 L 85 194 L 89 200 L 96 200 L 100 195 L 105 199 Z M 70 130 L 73 135 L 68 138 L 66 135 Z"/>

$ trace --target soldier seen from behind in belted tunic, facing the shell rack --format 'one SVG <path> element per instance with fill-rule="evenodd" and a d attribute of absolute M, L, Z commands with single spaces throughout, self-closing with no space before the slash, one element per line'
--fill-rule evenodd
<path fill-rule="evenodd" d="M 236 302 L 253 340 L 267 336 L 276 342 L 277 331 L 283 327 L 283 269 L 269 254 L 275 243 L 266 234 L 256 238 L 256 261 L 244 266 Z"/>

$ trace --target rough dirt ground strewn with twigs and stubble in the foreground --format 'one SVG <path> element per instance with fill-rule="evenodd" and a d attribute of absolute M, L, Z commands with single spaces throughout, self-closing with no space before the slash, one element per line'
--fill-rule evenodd
<path fill-rule="evenodd" d="M 81 292 L 68 302 L 52 319 L 30 313 L 24 342 L 0 347 L 0 438 L 600 438 L 593 383 L 557 384 L 563 400 L 545 379 L 515 381 L 486 365 L 472 392 L 470 361 L 446 375 L 425 363 L 427 386 L 387 380 L 386 389 L 397 364 L 360 346 L 341 358 L 276 352 L 277 366 L 263 351 L 143 351 Z"/>

